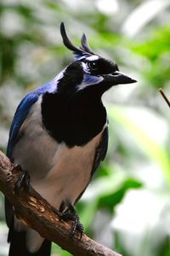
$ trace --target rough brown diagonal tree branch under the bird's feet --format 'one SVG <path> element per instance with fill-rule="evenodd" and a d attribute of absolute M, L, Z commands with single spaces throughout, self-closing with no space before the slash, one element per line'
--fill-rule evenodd
<path fill-rule="evenodd" d="M 11 161 L 0 151 L 0 190 L 14 206 L 17 218 L 74 256 L 121 256 L 86 235 L 82 235 L 81 240 L 79 234 L 71 237 L 71 222 L 59 220 L 54 208 L 31 186 L 29 189 L 20 188 L 14 193 L 14 185 L 21 175 L 21 170 L 14 168 Z"/>

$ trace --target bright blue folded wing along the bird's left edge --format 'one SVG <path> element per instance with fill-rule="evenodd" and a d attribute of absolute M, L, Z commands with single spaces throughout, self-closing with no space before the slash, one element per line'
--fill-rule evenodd
<path fill-rule="evenodd" d="M 27 114 L 30 111 L 32 105 L 37 102 L 38 97 L 47 91 L 53 91 L 56 89 L 56 81 L 54 80 L 49 82 L 48 84 L 42 85 L 37 90 L 31 91 L 24 99 L 20 102 L 20 105 L 16 109 L 14 114 L 14 119 L 9 131 L 9 139 L 8 139 L 8 147 L 7 147 L 7 156 L 11 159 L 14 145 L 17 143 L 18 132 L 20 131 L 20 127 L 26 119 Z"/>

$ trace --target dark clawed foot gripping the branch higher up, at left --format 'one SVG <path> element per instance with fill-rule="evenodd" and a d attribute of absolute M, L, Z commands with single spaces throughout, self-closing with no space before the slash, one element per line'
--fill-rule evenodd
<path fill-rule="evenodd" d="M 16 168 L 20 168 L 22 171 L 22 175 L 18 178 L 14 185 L 14 192 L 17 193 L 19 192 L 20 189 L 29 189 L 30 185 L 30 175 L 27 171 L 23 171 L 21 166 L 16 166 Z"/>

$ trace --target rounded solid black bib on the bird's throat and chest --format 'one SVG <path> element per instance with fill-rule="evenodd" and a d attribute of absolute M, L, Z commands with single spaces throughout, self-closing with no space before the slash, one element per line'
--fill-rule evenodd
<path fill-rule="evenodd" d="M 47 92 L 42 96 L 42 124 L 58 143 L 82 146 L 103 130 L 106 111 L 94 93 L 89 90 L 67 96 Z"/>

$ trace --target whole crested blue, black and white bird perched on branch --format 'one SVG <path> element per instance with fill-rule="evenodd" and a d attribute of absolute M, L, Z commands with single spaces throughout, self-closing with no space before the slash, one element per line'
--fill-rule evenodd
<path fill-rule="evenodd" d="M 114 61 L 96 55 L 82 35 L 76 47 L 61 36 L 75 54 L 53 80 L 31 91 L 20 102 L 11 125 L 7 155 L 30 175 L 34 189 L 63 216 L 77 219 L 74 205 L 105 159 L 108 120 L 101 96 L 116 84 L 136 82 L 119 72 Z M 51 242 L 44 240 L 14 216 L 6 200 L 10 256 L 48 256 Z M 62 216 L 62 215 L 61 215 Z"/>

